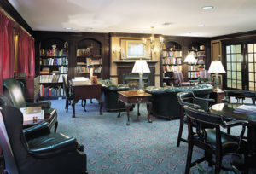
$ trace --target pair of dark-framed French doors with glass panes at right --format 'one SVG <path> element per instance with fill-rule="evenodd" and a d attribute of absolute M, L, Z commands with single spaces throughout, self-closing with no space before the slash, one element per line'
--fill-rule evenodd
<path fill-rule="evenodd" d="M 227 89 L 256 91 L 256 43 L 226 44 Z"/>

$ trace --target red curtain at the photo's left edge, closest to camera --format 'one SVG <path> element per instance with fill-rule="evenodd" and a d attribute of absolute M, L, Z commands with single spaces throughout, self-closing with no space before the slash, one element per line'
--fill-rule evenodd
<path fill-rule="evenodd" d="M 0 94 L 3 93 L 3 79 L 14 76 L 14 25 L 13 20 L 0 12 Z"/>

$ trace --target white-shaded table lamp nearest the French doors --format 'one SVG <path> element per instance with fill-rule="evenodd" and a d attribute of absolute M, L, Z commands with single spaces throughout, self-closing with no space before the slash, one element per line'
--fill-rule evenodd
<path fill-rule="evenodd" d="M 212 61 L 208 72 L 215 73 L 216 88 L 214 91 L 220 91 L 221 89 L 218 88 L 218 73 L 226 73 L 221 61 Z"/>

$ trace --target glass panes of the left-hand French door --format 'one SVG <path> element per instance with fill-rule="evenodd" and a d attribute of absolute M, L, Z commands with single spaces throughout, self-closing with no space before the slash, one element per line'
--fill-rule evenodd
<path fill-rule="evenodd" d="M 227 88 L 242 90 L 241 44 L 226 45 Z"/>

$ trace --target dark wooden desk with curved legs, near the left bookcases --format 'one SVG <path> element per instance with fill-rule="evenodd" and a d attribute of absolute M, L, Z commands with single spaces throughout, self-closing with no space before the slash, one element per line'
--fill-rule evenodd
<path fill-rule="evenodd" d="M 100 114 L 102 115 L 102 85 L 101 84 L 73 84 L 71 80 L 69 80 L 70 87 L 73 91 L 73 118 L 75 118 L 75 104 L 79 102 L 79 100 L 85 100 L 84 103 L 84 111 L 86 99 L 95 98 L 100 103 Z"/>

